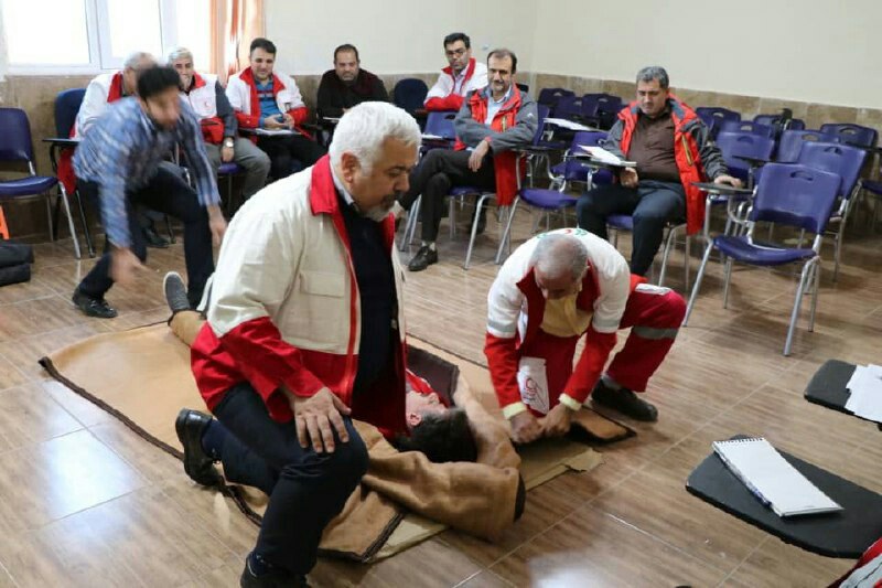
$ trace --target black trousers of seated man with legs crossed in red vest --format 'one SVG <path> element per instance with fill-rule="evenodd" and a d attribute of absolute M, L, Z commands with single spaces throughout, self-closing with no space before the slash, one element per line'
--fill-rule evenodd
<path fill-rule="evenodd" d="M 493 158 L 485 157 L 481 169 L 475 172 L 469 169 L 471 154 L 471 151 L 465 150 L 432 149 L 410 172 L 410 190 L 401 196 L 400 204 L 409 211 L 417 197 L 422 195 L 422 240 L 431 243 L 438 238 L 438 227 L 444 213 L 444 197 L 450 194 L 451 188 L 469 185 L 493 190 L 496 186 Z"/>

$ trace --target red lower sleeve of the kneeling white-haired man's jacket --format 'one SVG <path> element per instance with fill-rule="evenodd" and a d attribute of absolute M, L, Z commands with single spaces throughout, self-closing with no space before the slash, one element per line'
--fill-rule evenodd
<path fill-rule="evenodd" d="M 304 397 L 324 387 L 303 365 L 301 351 L 282 340 L 268 317 L 243 322 L 222 336 L 220 344 L 265 403 L 282 385 Z"/>

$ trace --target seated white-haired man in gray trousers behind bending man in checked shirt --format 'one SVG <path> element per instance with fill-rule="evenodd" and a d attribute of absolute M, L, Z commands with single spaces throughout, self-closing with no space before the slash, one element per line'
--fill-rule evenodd
<path fill-rule="evenodd" d="M 220 163 L 233 161 L 245 170 L 241 194 L 245 200 L 263 188 L 269 174 L 269 156 L 248 139 L 237 137 L 236 114 L 217 76 L 200 74 L 193 68 L 193 53 L 176 47 L 168 63 L 181 77 L 181 97 L 186 100 L 202 125 L 205 152 L 215 174 Z"/>

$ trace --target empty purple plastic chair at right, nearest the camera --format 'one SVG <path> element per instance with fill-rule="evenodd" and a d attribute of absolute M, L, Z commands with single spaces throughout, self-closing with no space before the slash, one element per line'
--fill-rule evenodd
<path fill-rule="evenodd" d="M 696 298 L 701 289 L 701 280 L 704 277 L 704 268 L 713 248 L 719 249 L 725 256 L 723 308 L 727 308 L 729 302 L 729 282 L 733 261 L 766 267 L 802 263 L 799 286 L 796 289 L 790 324 L 784 343 L 784 355 L 789 355 L 796 319 L 799 317 L 799 308 L 803 303 L 803 291 L 806 288 L 813 289 L 808 330 L 815 329 L 815 309 L 820 284 L 821 239 L 841 182 L 842 179 L 836 173 L 815 170 L 807 165 L 787 163 L 766 165 L 756 186 L 756 196 L 746 222 L 746 234 L 714 237 L 704 249 L 682 325 L 687 325 L 692 308 L 695 308 Z M 784 247 L 765 243 L 757 245 L 753 238 L 757 222 L 784 224 L 814 233 L 814 243 L 811 247 Z"/>

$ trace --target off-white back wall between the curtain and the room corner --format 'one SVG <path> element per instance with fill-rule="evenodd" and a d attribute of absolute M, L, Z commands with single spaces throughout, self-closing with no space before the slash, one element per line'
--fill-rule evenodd
<path fill-rule="evenodd" d="M 362 67 L 375 74 L 433 72 L 447 65 L 442 41 L 462 31 L 473 55 L 506 45 L 529 70 L 535 4 L 530 0 L 265 0 L 267 38 L 279 49 L 279 71 L 321 74 L 334 47 L 358 47 Z M 523 55 L 523 58 L 521 58 Z"/>

